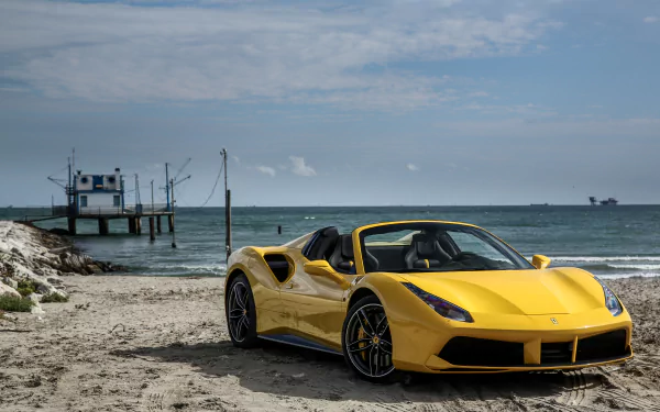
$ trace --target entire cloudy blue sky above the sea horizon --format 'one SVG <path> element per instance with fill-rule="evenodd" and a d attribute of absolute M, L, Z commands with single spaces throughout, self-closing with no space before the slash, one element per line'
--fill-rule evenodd
<path fill-rule="evenodd" d="M 3 0 L 0 62 L 0 205 L 72 147 L 191 157 L 180 205 L 222 147 L 235 204 L 660 202 L 654 0 Z"/>

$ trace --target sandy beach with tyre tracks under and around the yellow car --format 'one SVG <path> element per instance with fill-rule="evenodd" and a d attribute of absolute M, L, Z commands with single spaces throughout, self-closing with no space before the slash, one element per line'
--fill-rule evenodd
<path fill-rule="evenodd" d="M 343 359 L 228 337 L 220 278 L 65 277 L 67 303 L 0 321 L 2 411 L 660 410 L 660 279 L 613 280 L 636 357 L 574 372 L 355 379 Z"/>

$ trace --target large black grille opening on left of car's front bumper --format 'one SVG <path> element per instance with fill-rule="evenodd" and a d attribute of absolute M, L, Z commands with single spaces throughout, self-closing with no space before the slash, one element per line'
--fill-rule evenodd
<path fill-rule="evenodd" d="M 517 342 L 457 336 L 444 345 L 439 356 L 461 366 L 520 366 L 525 364 L 524 346 Z"/>

